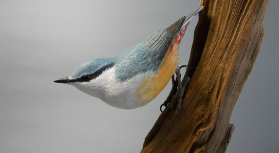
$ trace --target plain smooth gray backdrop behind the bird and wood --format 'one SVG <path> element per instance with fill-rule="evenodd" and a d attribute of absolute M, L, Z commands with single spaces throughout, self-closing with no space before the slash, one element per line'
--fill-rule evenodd
<path fill-rule="evenodd" d="M 200 1 L 0 1 L 0 152 L 139 152 L 160 115 L 169 84 L 150 104 L 110 107 L 73 86 L 83 62 L 115 57 L 189 14 Z M 277 152 L 278 1 L 270 1 L 265 38 L 235 105 L 227 152 Z M 190 54 L 195 17 L 180 45 Z"/>

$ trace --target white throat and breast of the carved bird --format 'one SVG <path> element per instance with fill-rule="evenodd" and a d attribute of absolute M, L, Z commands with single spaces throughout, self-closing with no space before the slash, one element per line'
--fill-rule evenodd
<path fill-rule="evenodd" d="M 90 82 L 72 83 L 82 92 L 100 98 L 106 104 L 120 109 L 134 109 L 142 107 L 134 94 L 146 77 L 153 72 L 137 74 L 135 77 L 121 82 L 116 79 L 115 67 L 105 70 L 99 77 Z"/>

